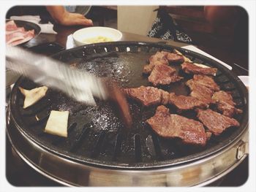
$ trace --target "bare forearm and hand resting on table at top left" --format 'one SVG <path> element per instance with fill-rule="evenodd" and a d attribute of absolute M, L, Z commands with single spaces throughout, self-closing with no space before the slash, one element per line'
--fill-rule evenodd
<path fill-rule="evenodd" d="M 92 20 L 79 13 L 67 12 L 63 6 L 46 6 L 53 20 L 63 26 L 92 26 Z"/>

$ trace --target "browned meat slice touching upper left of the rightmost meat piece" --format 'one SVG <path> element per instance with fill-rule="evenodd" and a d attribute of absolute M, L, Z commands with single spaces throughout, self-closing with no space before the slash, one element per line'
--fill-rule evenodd
<path fill-rule="evenodd" d="M 201 85 L 195 80 L 188 80 L 186 85 L 189 86 L 190 96 L 195 97 L 199 101 L 202 101 L 206 104 L 214 104 L 214 99 L 211 99 L 211 96 L 214 94 L 214 91 L 211 88 L 207 88 L 204 85 Z"/>

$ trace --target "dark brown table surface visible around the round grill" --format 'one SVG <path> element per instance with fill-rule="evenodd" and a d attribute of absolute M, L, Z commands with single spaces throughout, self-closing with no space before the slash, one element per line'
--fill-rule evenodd
<path fill-rule="evenodd" d="M 35 45 L 40 45 L 46 42 L 56 42 L 62 47 L 66 48 L 67 45 L 67 37 L 70 34 L 73 34 L 76 30 L 80 29 L 81 27 L 72 26 L 72 27 L 65 27 L 65 26 L 55 26 L 54 30 L 57 31 L 58 34 L 39 34 L 38 37 L 32 39 L 30 42 L 26 43 L 24 47 L 33 47 Z M 157 38 L 150 38 L 144 37 L 138 34 L 129 34 L 123 32 L 123 37 L 121 41 L 142 41 L 142 42 L 166 42 L 167 45 L 173 45 L 177 47 L 182 47 L 187 44 L 174 42 L 174 41 L 164 41 L 162 39 Z M 226 64 L 233 66 L 233 72 L 237 75 L 248 75 L 248 71 L 241 69 L 233 63 L 238 63 L 238 61 L 234 61 L 232 54 L 223 54 L 216 52 L 215 50 L 211 50 L 209 47 L 198 47 L 201 50 L 205 51 L 206 53 L 213 55 L 215 58 L 219 58 L 220 60 L 224 61 Z M 225 56 L 223 56 L 225 55 Z M 248 60 L 247 60 L 248 61 Z M 245 69 L 248 69 L 248 64 L 243 63 Z M 9 180 L 12 185 L 18 186 L 58 186 L 58 183 L 54 183 L 51 180 L 43 177 L 42 175 L 35 172 L 31 169 L 28 165 L 24 162 L 20 161 L 18 156 L 16 156 L 12 151 L 12 147 L 10 147 L 10 142 L 7 139 L 7 180 Z M 26 174 L 24 174 L 26 172 Z M 244 180 L 241 180 L 241 177 L 237 177 L 237 175 L 241 175 L 244 177 Z M 19 177 L 20 175 L 20 177 Z M 22 175 L 22 176 L 21 176 Z M 229 177 L 227 177 L 229 176 Z M 222 179 L 221 183 L 213 183 L 211 185 L 224 185 L 224 186 L 237 186 L 242 185 L 246 181 L 246 177 L 248 177 L 248 158 L 241 163 L 233 172 L 227 174 L 227 176 Z"/>

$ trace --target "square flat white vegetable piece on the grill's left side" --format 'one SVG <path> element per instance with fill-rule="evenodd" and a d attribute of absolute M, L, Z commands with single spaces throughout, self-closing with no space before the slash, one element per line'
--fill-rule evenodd
<path fill-rule="evenodd" d="M 45 126 L 45 133 L 67 137 L 68 111 L 50 111 L 50 117 Z"/>

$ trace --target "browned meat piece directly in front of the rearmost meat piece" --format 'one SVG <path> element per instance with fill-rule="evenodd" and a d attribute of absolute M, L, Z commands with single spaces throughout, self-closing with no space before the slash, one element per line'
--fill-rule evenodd
<path fill-rule="evenodd" d="M 176 69 L 165 64 L 154 66 L 153 71 L 148 76 L 148 81 L 152 82 L 154 86 L 169 85 L 171 82 L 177 82 L 182 79 L 183 77 L 179 77 L 176 74 Z"/>

